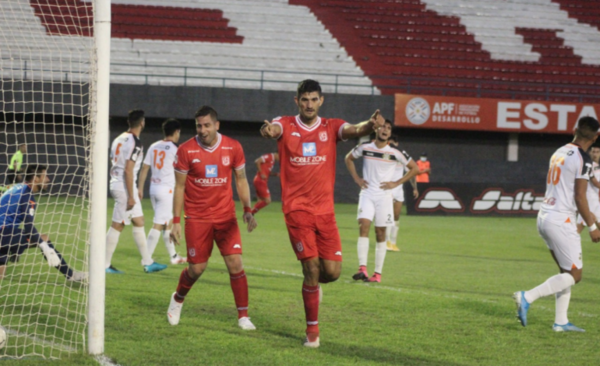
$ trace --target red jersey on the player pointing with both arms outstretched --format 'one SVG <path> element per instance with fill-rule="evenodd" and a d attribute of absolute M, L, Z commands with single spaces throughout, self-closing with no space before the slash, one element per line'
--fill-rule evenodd
<path fill-rule="evenodd" d="M 275 118 L 273 123 L 282 131 L 277 146 L 283 213 L 333 213 L 336 145 L 347 122 L 319 117 L 308 127 L 299 116 L 286 116 Z"/>

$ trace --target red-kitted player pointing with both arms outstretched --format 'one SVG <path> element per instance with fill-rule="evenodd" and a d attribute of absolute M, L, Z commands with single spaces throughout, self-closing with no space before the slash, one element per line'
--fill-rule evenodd
<path fill-rule="evenodd" d="M 369 135 L 385 120 L 379 110 L 368 121 L 355 125 L 319 117 L 324 99 L 321 86 L 314 80 L 300 82 L 294 100 L 299 115 L 265 121 L 261 134 L 277 139 L 285 223 L 304 273 L 304 346 L 316 348 L 322 296 L 319 283 L 337 280 L 342 270 L 342 243 L 333 208 L 336 145 Z"/>

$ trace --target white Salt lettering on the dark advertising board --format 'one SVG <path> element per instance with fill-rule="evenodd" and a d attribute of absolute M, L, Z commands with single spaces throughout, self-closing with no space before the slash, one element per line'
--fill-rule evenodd
<path fill-rule="evenodd" d="M 539 211 L 544 195 L 533 190 L 519 189 L 515 193 L 505 193 L 501 188 L 490 188 L 481 196 L 473 199 L 471 212 L 485 213 L 497 211 L 503 213 L 522 213 Z"/>

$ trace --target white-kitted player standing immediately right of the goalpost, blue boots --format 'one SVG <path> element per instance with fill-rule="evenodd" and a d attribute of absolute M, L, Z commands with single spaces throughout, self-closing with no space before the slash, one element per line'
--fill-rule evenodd
<path fill-rule="evenodd" d="M 119 236 L 133 222 L 133 240 L 142 255 L 142 266 L 146 273 L 158 272 L 167 268 L 152 260 L 146 244 L 144 213 L 137 191 L 137 174 L 144 158 L 144 146 L 139 137 L 145 126 L 144 111 L 135 109 L 127 117 L 129 130 L 117 137 L 110 148 L 110 195 L 115 199 L 112 224 L 106 233 L 106 273 L 121 274 L 122 271 L 111 265 L 117 249 Z"/>

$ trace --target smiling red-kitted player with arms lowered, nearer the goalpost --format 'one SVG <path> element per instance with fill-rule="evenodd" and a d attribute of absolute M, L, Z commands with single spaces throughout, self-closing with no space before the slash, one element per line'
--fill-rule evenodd
<path fill-rule="evenodd" d="M 196 115 L 197 135 L 183 143 L 175 158 L 175 193 L 171 238 L 179 244 L 181 209 L 185 215 L 188 268 L 181 272 L 177 291 L 171 296 L 167 319 L 177 325 L 183 300 L 204 272 L 213 250 L 213 242 L 229 270 L 231 289 L 238 310 L 238 325 L 256 329 L 248 318 L 248 281 L 242 265 L 242 240 L 235 217 L 231 176 L 244 205 L 244 223 L 248 232 L 256 227 L 252 216 L 250 188 L 246 179 L 242 145 L 221 135 L 217 112 L 207 106 Z"/>

